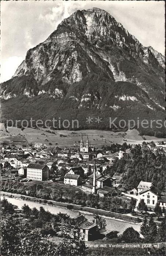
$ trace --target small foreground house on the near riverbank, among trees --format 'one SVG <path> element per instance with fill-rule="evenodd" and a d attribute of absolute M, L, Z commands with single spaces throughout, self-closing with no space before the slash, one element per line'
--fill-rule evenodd
<path fill-rule="evenodd" d="M 73 218 L 80 228 L 80 239 L 84 241 L 94 240 L 98 233 L 97 224 L 88 221 L 83 215 Z"/>

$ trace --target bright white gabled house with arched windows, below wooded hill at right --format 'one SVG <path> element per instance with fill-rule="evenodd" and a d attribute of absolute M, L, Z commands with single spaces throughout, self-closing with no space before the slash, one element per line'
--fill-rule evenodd
<path fill-rule="evenodd" d="M 139 199 L 143 199 L 147 207 L 155 207 L 156 203 L 158 203 L 158 199 L 160 199 L 160 195 L 161 190 L 151 185 L 150 187 L 144 188 L 139 192 Z"/>

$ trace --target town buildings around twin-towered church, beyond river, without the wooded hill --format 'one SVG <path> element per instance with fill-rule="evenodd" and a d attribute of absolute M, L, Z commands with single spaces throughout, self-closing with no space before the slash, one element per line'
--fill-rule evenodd
<path fill-rule="evenodd" d="M 99 197 L 121 196 L 135 198 L 137 203 L 144 199 L 147 207 L 154 208 L 156 203 L 166 207 L 166 193 L 155 187 L 152 180 L 140 177 L 136 187 L 128 189 L 120 181 L 112 168 L 117 160 L 133 158 L 132 151 L 136 145 L 107 148 L 92 147 L 87 136 L 82 136 L 80 148 L 45 147 L 44 144 L 34 143 L 29 147 L 3 145 L 1 149 L 1 181 L 17 182 L 60 182 L 69 187 L 78 187 L 85 193 L 93 193 Z M 5 143 L 3 143 L 5 144 Z M 115 145 L 114 145 L 115 146 Z M 152 154 L 165 154 L 166 143 L 147 143 L 141 146 Z M 122 150 L 123 148 L 123 150 Z M 116 151 L 116 152 L 114 152 Z M 110 175 L 111 174 L 111 175 Z M 113 175 L 112 175 L 113 174 Z"/>

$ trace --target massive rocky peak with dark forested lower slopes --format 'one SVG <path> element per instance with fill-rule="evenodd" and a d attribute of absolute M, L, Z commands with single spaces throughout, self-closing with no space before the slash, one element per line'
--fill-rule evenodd
<path fill-rule="evenodd" d="M 0 97 L 2 121 L 61 117 L 108 129 L 109 117 L 165 120 L 165 57 L 106 11 L 78 10 L 28 50 Z M 89 116 L 102 123 L 88 124 Z M 154 126 L 139 131 L 166 136 Z"/>

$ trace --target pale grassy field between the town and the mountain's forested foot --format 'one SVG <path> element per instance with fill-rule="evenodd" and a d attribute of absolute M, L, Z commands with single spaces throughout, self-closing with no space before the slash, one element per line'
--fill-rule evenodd
<path fill-rule="evenodd" d="M 28 143 L 44 143 L 46 146 L 59 146 L 59 147 L 76 147 L 80 146 L 80 140 L 83 135 L 83 140 L 86 142 L 88 135 L 91 146 L 96 148 L 102 145 L 109 145 L 112 143 L 122 144 L 125 140 L 129 144 L 138 144 L 144 141 L 146 142 L 154 141 L 166 141 L 166 139 L 155 138 L 154 136 L 140 136 L 136 129 L 124 132 L 111 132 L 111 131 L 101 131 L 101 130 L 80 130 L 80 131 L 67 131 L 58 130 L 52 131 L 48 128 L 33 129 L 25 128 L 21 131 L 20 128 L 8 127 L 8 132 L 5 131 L 3 124 L 0 125 L 1 128 L 1 143 L 9 142 L 9 144 L 15 144 L 22 146 Z M 49 133 L 48 131 L 54 132 Z M 64 135 L 65 137 L 60 137 Z M 49 144 L 51 143 L 51 145 Z"/>

